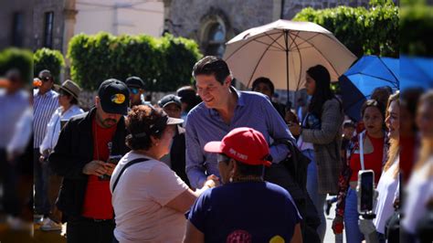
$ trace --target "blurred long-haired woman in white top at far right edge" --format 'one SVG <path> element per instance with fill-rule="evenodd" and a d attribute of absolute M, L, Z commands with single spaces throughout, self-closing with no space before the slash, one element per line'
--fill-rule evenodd
<path fill-rule="evenodd" d="M 405 188 L 407 196 L 403 207 L 402 227 L 407 242 L 418 242 L 419 220 L 428 214 L 428 203 L 433 200 L 433 91 L 419 100 L 417 127 L 421 136 L 419 159 Z M 405 234 L 406 235 L 406 234 Z M 410 241 L 409 241 L 410 240 Z"/>

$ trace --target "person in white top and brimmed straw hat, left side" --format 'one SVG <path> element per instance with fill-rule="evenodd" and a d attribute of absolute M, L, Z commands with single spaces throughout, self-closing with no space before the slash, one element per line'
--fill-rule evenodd
<path fill-rule="evenodd" d="M 63 84 L 58 87 L 58 103 L 60 106 L 54 111 L 51 119 L 47 125 L 47 133 L 45 134 L 42 144 L 39 146 L 41 156 L 39 158 L 40 163 L 45 164 L 46 158 L 51 153 L 56 144 L 58 143 L 58 135 L 60 135 L 61 125 L 69 121 L 69 119 L 75 115 L 83 113 L 78 106 L 79 92 L 81 89 L 79 86 L 71 81 L 66 80 Z M 48 200 L 51 205 L 51 214 L 49 217 L 45 217 L 42 221 L 42 230 L 60 230 L 61 213 L 55 207 L 55 202 L 58 196 L 58 190 L 60 189 L 61 177 L 56 174 L 49 175 L 48 181 Z"/>

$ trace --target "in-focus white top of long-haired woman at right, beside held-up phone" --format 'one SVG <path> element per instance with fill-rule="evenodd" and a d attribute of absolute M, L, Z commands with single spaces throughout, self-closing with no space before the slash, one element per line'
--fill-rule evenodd
<path fill-rule="evenodd" d="M 391 217 L 394 213 L 394 200 L 396 195 L 398 195 L 398 174 L 394 176 L 398 160 L 396 159 L 394 164 L 382 173 L 380 176 L 379 183 L 377 184 L 377 201 L 375 205 L 375 223 L 376 231 L 385 234 L 385 224 L 386 220 Z"/>

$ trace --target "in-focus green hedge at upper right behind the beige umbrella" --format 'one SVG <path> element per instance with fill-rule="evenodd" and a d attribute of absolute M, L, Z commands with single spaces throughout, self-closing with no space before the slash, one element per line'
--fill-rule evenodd
<path fill-rule="evenodd" d="M 293 20 L 311 21 L 337 37 L 354 55 L 398 57 L 398 7 L 375 5 L 364 7 L 337 6 L 335 8 L 301 10 Z"/>

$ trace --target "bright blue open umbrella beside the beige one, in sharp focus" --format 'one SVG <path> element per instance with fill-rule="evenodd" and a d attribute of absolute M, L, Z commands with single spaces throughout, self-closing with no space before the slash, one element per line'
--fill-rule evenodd
<path fill-rule="evenodd" d="M 361 107 L 365 100 L 370 99 L 373 90 L 384 86 L 398 90 L 398 59 L 364 56 L 338 80 L 343 94 L 343 109 L 358 122 L 361 120 Z"/>

